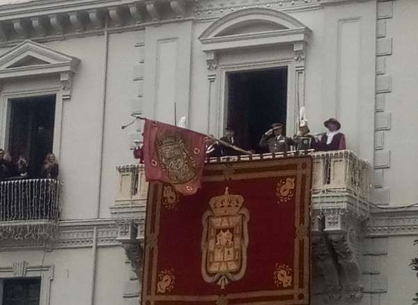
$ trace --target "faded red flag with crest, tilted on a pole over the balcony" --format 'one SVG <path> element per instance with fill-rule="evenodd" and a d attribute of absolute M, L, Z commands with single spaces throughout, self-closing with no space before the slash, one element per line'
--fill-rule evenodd
<path fill-rule="evenodd" d="M 146 180 L 168 182 L 185 195 L 196 193 L 205 164 L 206 137 L 146 119 L 143 146 Z"/>

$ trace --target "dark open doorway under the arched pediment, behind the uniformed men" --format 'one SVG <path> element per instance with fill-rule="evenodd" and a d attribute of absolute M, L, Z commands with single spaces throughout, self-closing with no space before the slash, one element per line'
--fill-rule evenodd
<path fill-rule="evenodd" d="M 288 68 L 229 72 L 227 125 L 242 148 L 266 153 L 258 146 L 272 123 L 286 128 Z M 284 130 L 286 132 L 286 130 Z"/>

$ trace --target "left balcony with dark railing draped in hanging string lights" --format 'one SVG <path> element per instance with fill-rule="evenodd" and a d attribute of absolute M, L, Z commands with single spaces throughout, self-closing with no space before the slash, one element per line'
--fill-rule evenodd
<path fill-rule="evenodd" d="M 52 237 L 62 185 L 53 179 L 0 182 L 0 240 Z"/>

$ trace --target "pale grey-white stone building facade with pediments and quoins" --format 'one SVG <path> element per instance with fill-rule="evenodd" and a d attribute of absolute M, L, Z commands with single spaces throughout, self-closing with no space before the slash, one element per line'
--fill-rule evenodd
<path fill-rule="evenodd" d="M 186 116 L 190 129 L 222 136 L 237 116 L 256 124 L 263 111 L 251 116 L 257 98 L 247 97 L 261 93 L 244 92 L 242 79 L 271 81 L 269 71 L 281 71 L 269 83 L 281 93 L 264 93 L 281 98 L 288 135 L 303 106 L 313 132 L 327 118 L 341 122 L 357 156 L 337 155 L 348 166 L 332 177 L 370 164 L 361 170 L 370 196 L 346 178 L 343 191 L 325 196 L 319 183 L 314 192 L 311 304 L 411 304 L 417 208 L 399 208 L 418 203 L 417 13 L 415 0 L 1 1 L 0 148 L 15 149 L 24 111 L 43 107 L 63 185 L 53 241 L 0 240 L 0 305 L 5 283 L 26 278 L 40 278 L 40 305 L 137 304 L 146 183 L 132 148 L 141 122 L 121 126 L 132 115 Z M 249 108 L 239 112 L 237 100 Z M 3 220 L 2 232 L 50 222 Z"/>

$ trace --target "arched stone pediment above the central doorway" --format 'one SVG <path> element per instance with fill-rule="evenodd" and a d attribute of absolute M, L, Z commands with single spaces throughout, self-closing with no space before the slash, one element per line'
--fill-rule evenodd
<path fill-rule="evenodd" d="M 199 40 L 204 52 L 306 43 L 311 30 L 294 17 L 268 8 L 245 8 L 211 24 Z"/>

